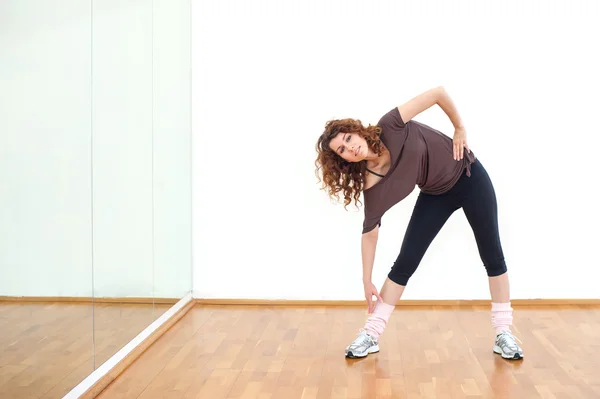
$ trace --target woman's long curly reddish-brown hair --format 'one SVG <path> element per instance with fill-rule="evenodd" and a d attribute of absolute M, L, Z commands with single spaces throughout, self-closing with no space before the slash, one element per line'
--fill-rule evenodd
<path fill-rule="evenodd" d="M 327 191 L 329 197 L 337 201 L 340 200 L 340 192 L 342 192 L 344 208 L 347 209 L 352 200 L 358 208 L 358 204 L 361 203 L 360 193 L 365 185 L 367 165 L 366 161 L 348 162 L 329 147 L 331 140 L 340 133 L 358 134 L 365 139 L 371 151 L 381 155 L 383 152 L 379 138 L 381 127 L 377 125 L 364 127 L 358 119 L 334 119 L 325 124 L 325 131 L 317 140 L 315 166 L 317 179 L 322 182 L 321 190 Z M 320 170 L 322 170 L 322 177 L 319 176 Z"/>

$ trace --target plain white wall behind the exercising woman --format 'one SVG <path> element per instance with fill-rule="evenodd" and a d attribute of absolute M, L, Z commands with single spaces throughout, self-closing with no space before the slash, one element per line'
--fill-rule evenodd
<path fill-rule="evenodd" d="M 591 2 L 195 2 L 194 295 L 363 299 L 362 208 L 318 190 L 331 118 L 376 123 L 444 85 L 497 191 L 513 298 L 599 298 Z M 451 135 L 434 107 L 417 120 Z M 398 254 L 417 191 L 384 217 L 373 279 Z M 406 299 L 486 299 L 462 211 Z"/>

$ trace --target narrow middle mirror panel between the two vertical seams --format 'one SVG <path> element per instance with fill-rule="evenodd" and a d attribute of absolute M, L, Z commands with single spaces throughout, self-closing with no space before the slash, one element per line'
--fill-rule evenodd
<path fill-rule="evenodd" d="M 151 4 L 92 3 L 95 368 L 156 318 Z"/>

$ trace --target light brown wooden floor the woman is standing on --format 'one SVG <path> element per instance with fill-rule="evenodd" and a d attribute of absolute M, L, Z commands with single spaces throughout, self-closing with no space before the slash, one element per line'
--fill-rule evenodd
<path fill-rule="evenodd" d="M 344 358 L 362 308 L 194 307 L 100 398 L 599 398 L 600 308 L 515 307 L 525 359 L 484 307 L 397 308 L 381 352 Z"/>

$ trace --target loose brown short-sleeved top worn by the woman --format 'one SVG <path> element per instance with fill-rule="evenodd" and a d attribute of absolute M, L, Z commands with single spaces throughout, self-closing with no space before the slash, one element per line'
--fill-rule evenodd
<path fill-rule="evenodd" d="M 363 191 L 365 219 L 363 234 L 381 226 L 381 217 L 419 186 L 426 194 L 442 194 L 458 181 L 465 168 L 471 175 L 475 155 L 464 151 L 460 161 L 453 158 L 452 139 L 427 125 L 410 120 L 404 123 L 397 107 L 377 123 L 381 140 L 390 152 L 390 169 L 375 185 Z"/>

